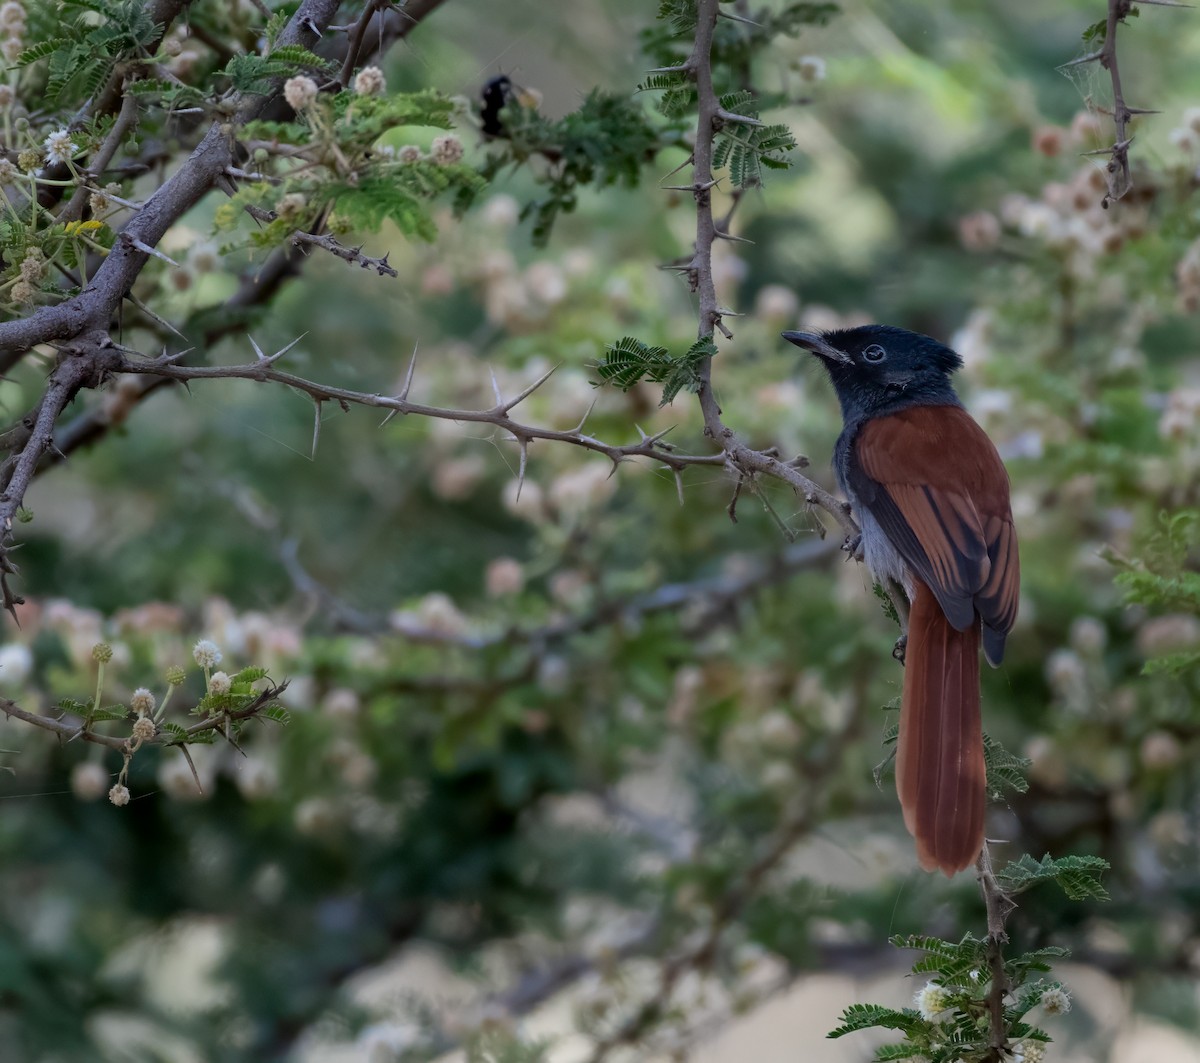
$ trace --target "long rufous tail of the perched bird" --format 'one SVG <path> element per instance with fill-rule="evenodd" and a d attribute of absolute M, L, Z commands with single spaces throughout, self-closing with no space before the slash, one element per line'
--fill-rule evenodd
<path fill-rule="evenodd" d="M 919 581 L 905 649 L 896 792 L 922 867 L 949 876 L 974 863 L 986 804 L 979 621 L 955 631 Z"/>

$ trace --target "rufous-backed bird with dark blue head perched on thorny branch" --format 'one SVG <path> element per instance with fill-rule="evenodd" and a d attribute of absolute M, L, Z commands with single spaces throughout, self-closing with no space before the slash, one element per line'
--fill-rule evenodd
<path fill-rule="evenodd" d="M 962 359 L 894 325 L 784 332 L 824 365 L 841 406 L 834 473 L 862 529 L 848 548 L 907 611 L 896 792 L 926 871 L 984 842 L 979 648 L 992 667 L 1016 619 L 1008 473 L 952 383 Z"/>

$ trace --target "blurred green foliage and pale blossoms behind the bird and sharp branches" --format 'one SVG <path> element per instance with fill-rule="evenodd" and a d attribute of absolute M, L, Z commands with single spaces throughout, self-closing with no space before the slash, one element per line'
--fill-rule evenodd
<path fill-rule="evenodd" d="M 635 90 L 650 7 L 449 0 L 388 55 L 389 86 L 475 100 L 505 73 L 557 118 Z M 1103 210 L 1085 154 L 1111 142 L 1108 78 L 1058 70 L 1103 8 L 860 2 L 774 42 L 755 84 L 799 146 L 738 206 L 754 242 L 718 247 L 746 317 L 714 379 L 731 427 L 832 488 L 836 403 L 780 330 L 886 322 L 962 354 L 1024 573 L 984 726 L 1030 788 L 989 834 L 1112 864 L 1110 901 L 1044 889 L 1012 918 L 1020 947 L 1073 951 L 1048 1058 L 1200 1059 L 1200 20 L 1148 7 L 1122 31 L 1127 98 L 1160 113 Z M 460 134 L 482 166 L 494 149 Z M 506 169 L 440 209 L 432 244 L 368 240 L 397 280 L 314 257 L 251 334 L 304 334 L 287 368 L 368 392 L 416 350 L 412 397 L 443 407 L 557 366 L 526 422 L 673 426 L 708 452 L 692 396 L 593 386 L 620 336 L 695 336 L 659 269 L 694 239 L 690 198 L 656 187 L 685 157 L 582 191 L 544 247 L 518 217 L 536 167 Z M 176 318 L 220 313 L 245 263 L 216 206 L 163 241 L 181 265 L 151 294 Z M 208 352 L 252 356 L 242 334 Z M 0 402 L 38 382 L 18 370 Z M 197 749 L 203 793 L 179 753 L 140 752 L 126 807 L 104 799 L 119 757 L 0 725 L 5 1058 L 569 1063 L 650 999 L 611 1058 L 859 1061 L 869 1037 L 824 1039 L 840 1010 L 919 987 L 888 936 L 984 932 L 974 881 L 922 872 L 904 831 L 895 627 L 785 485 L 744 490 L 734 523 L 719 467 L 685 472 L 680 502 L 654 463 L 534 443 L 518 497 L 517 449 L 486 425 L 326 404 L 313 452 L 312 404 L 284 389 L 127 409 L 121 388 L 95 396 L 119 431 L 28 498 L 0 693 L 85 698 L 104 638 L 112 697 L 161 697 L 210 638 L 223 667 L 290 680 L 292 722 Z M 697 962 L 665 983 L 680 954 Z"/>

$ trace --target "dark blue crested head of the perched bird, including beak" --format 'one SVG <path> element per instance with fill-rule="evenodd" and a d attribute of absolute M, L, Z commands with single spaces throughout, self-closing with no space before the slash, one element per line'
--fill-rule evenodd
<path fill-rule="evenodd" d="M 950 374 L 962 366 L 949 347 L 894 325 L 784 332 L 829 372 L 847 424 L 913 406 L 958 406 Z"/>

